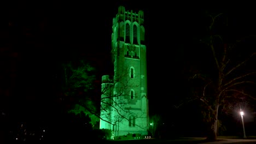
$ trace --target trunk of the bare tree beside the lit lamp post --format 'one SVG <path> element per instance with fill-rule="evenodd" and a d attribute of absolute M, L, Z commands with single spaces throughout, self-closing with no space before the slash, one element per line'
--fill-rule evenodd
<path fill-rule="evenodd" d="M 212 121 L 211 129 L 207 136 L 208 141 L 217 141 L 218 109 L 219 109 L 219 105 L 215 107 L 215 110 L 213 112 L 213 115 L 214 115 L 213 121 Z"/>

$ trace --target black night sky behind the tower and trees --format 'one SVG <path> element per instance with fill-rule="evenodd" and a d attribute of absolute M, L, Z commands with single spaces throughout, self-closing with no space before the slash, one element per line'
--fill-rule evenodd
<path fill-rule="evenodd" d="M 203 59 L 196 57 L 201 56 L 202 51 L 195 39 L 206 33 L 206 11 L 230 17 L 227 22 L 230 29 L 223 29 L 225 35 L 238 38 L 256 34 L 255 9 L 242 6 L 172 1 L 54 1 L 33 6 L 22 3 L 8 11 L 11 36 L 6 40 L 15 57 L 17 75 L 16 80 L 8 84 L 16 89 L 10 93 L 19 95 L 15 97 L 21 101 L 49 95 L 47 83 L 57 69 L 56 64 L 75 55 L 94 61 L 99 80 L 102 75 L 112 73 L 112 20 L 119 5 L 124 5 L 126 10 L 144 11 L 150 113 L 170 115 L 171 104 L 187 94 L 188 62 L 203 63 Z M 71 55 L 71 51 L 75 54 Z"/>

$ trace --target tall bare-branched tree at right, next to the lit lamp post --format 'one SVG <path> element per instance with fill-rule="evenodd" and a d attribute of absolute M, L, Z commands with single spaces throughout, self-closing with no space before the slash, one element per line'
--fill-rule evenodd
<path fill-rule="evenodd" d="M 207 139 L 215 141 L 218 133 L 218 113 L 220 110 L 236 105 L 242 99 L 256 100 L 252 97 L 255 89 L 255 50 L 249 50 L 246 42 L 253 35 L 235 39 L 229 32 L 225 21 L 227 17 L 220 13 L 207 15 L 210 25 L 200 43 L 200 64 L 189 69 L 190 89 L 193 97 L 188 101 L 202 102 L 205 122 L 208 123 Z M 207 23 L 207 22 L 206 22 Z M 224 25 L 224 26 L 223 26 Z M 252 42 L 252 41 L 251 41 Z M 252 45 L 251 45 L 252 46 Z M 255 46 L 255 43 L 254 43 Z M 209 59 L 209 61 L 208 61 Z M 177 106 L 179 107 L 179 106 Z"/>

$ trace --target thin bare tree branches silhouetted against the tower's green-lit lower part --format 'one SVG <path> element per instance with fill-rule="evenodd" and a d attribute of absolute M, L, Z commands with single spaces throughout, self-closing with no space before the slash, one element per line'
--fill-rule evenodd
<path fill-rule="evenodd" d="M 147 112 L 133 113 L 130 109 L 127 109 L 127 104 L 132 103 L 129 101 L 131 97 L 129 89 L 136 87 L 139 86 L 136 82 L 131 82 L 128 68 L 124 69 L 119 75 L 116 74 L 113 79 L 110 79 L 108 75 L 103 76 L 101 89 L 101 120 L 113 125 L 113 127 L 118 127 L 118 123 L 126 120 L 132 124 L 130 126 L 136 125 L 144 129 L 141 125 L 133 122 L 135 119 L 147 118 L 144 116 L 144 113 Z M 136 98 L 134 99 L 136 100 Z M 130 115 L 133 115 L 133 117 L 129 117 Z"/>

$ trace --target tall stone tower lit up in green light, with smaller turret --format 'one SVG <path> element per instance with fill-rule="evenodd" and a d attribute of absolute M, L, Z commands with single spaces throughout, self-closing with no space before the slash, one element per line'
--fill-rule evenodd
<path fill-rule="evenodd" d="M 112 26 L 114 77 L 102 76 L 101 129 L 114 136 L 147 135 L 147 60 L 144 14 L 118 8 Z"/>

